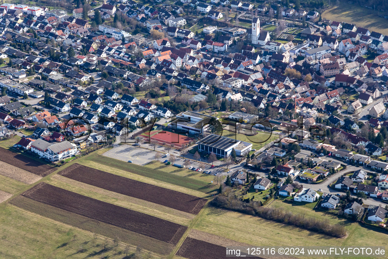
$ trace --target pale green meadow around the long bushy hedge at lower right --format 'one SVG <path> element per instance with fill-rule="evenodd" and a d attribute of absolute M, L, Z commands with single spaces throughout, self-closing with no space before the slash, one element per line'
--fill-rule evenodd
<path fill-rule="evenodd" d="M 201 217 L 196 221 L 193 228 L 207 233 L 212 233 L 225 238 L 258 246 L 360 246 L 360 245 L 386 245 L 386 234 L 364 228 L 358 223 L 352 223 L 345 219 L 338 219 L 331 214 L 314 212 L 304 206 L 292 206 L 284 203 L 279 205 L 275 200 L 270 206 L 282 207 L 284 210 L 299 212 L 306 210 L 307 216 L 318 217 L 328 220 L 332 224 L 342 224 L 348 230 L 346 238 L 334 238 L 312 231 L 307 231 L 294 226 L 269 221 L 260 217 L 241 214 L 239 212 L 217 209 L 205 206 L 201 211 Z M 237 227 L 236 222 L 242 225 Z M 238 229 L 237 229 L 238 228 Z M 383 242 L 381 242 L 383 240 Z M 306 257 L 302 257 L 306 258 Z M 339 257 L 340 258 L 340 257 Z M 345 258 L 345 257 L 343 257 Z M 375 257 L 378 258 L 378 257 Z"/>

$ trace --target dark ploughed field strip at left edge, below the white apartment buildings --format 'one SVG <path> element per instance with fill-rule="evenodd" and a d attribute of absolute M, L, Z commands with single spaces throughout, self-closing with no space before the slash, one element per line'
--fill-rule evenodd
<path fill-rule="evenodd" d="M 39 161 L 33 160 L 4 148 L 0 148 L 0 160 L 38 176 L 47 176 L 56 170 L 54 167 L 45 165 Z"/>

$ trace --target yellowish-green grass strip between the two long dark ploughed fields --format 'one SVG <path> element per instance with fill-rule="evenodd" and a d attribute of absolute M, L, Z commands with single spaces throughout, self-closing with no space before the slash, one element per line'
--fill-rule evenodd
<path fill-rule="evenodd" d="M 145 214 L 166 219 L 185 226 L 187 226 L 195 217 L 193 214 L 187 212 L 171 209 L 163 205 L 147 202 L 145 200 L 122 195 L 120 193 L 108 191 L 89 184 L 77 182 L 58 174 L 52 176 L 51 179 L 47 179 L 45 182 L 68 191 L 73 191 L 97 200 L 102 200 L 103 202 L 109 202 L 114 205 L 143 212 Z"/>

